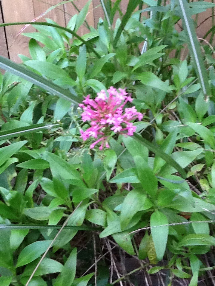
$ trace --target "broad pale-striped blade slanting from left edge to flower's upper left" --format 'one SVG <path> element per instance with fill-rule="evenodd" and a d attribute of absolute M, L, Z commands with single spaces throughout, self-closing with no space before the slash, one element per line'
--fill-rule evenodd
<path fill-rule="evenodd" d="M 9 71 L 12 74 L 18 75 L 19 77 L 41 87 L 51 94 L 62 97 L 66 100 L 73 102 L 73 104 L 78 105 L 76 97 L 71 94 L 69 91 L 65 90 L 52 83 L 49 80 L 46 80 L 44 77 L 35 74 L 34 72 L 26 69 L 24 66 L 21 66 L 17 63 L 14 63 L 12 60 L 7 59 L 6 57 L 0 56 L 0 68 Z"/>

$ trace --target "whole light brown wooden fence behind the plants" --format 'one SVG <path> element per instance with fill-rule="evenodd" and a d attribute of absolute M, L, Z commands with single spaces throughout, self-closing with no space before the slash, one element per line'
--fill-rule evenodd
<path fill-rule="evenodd" d="M 79 10 L 84 7 L 88 0 L 75 0 Z M 121 9 L 125 13 L 129 0 L 121 1 Z M 0 0 L 0 23 L 32 21 L 44 13 L 51 6 L 63 2 L 63 0 Z M 72 15 L 77 13 L 71 3 L 63 4 L 53 9 L 44 18 L 51 18 L 61 26 L 66 26 Z M 199 23 L 211 15 L 211 9 L 199 15 Z M 90 26 L 94 26 L 100 17 L 103 17 L 100 0 L 93 0 L 90 4 L 87 21 Z M 18 54 L 28 55 L 29 38 L 18 35 L 23 26 L 8 26 L 0 28 L 0 55 L 9 57 L 11 60 L 20 62 Z M 198 36 L 202 37 L 211 27 L 211 17 L 208 18 L 197 30 Z M 34 31 L 33 27 L 27 27 L 25 32 Z M 86 28 L 81 27 L 79 34 L 87 32 Z"/>

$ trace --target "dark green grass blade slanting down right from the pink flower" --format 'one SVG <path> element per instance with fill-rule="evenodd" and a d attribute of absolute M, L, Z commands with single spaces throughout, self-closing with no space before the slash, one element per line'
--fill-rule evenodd
<path fill-rule="evenodd" d="M 149 150 L 151 150 L 153 153 L 155 153 L 157 156 L 160 156 L 164 161 L 166 161 L 168 164 L 170 164 L 172 167 L 174 167 L 182 176 L 183 179 L 186 179 L 187 174 L 185 170 L 182 169 L 182 167 L 175 161 L 173 158 L 171 158 L 168 154 L 164 153 L 162 150 L 160 150 L 157 146 L 155 146 L 153 143 L 149 142 L 145 138 L 143 138 L 141 135 L 134 133 L 134 138 L 145 145 Z"/>

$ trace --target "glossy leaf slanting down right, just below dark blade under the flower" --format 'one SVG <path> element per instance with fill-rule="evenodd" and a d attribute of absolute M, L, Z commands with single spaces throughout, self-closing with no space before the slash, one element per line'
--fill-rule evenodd
<path fill-rule="evenodd" d="M 158 189 L 158 181 L 153 170 L 140 156 L 135 156 L 134 161 L 137 169 L 137 177 L 139 178 L 143 189 L 148 195 L 155 198 Z"/>

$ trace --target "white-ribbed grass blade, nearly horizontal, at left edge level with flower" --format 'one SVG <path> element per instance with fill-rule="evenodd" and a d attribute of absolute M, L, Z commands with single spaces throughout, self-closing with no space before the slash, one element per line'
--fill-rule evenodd
<path fill-rule="evenodd" d="M 41 123 L 41 124 L 33 124 L 33 125 L 24 126 L 20 128 L 0 131 L 0 141 L 19 137 L 22 135 L 26 135 L 28 133 L 35 133 L 35 132 L 40 132 L 40 131 L 44 131 L 47 129 L 59 128 L 61 126 L 62 125 L 60 123 L 49 124 L 49 125 Z"/>

